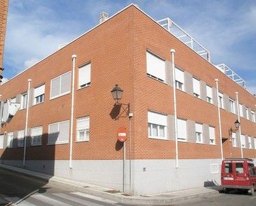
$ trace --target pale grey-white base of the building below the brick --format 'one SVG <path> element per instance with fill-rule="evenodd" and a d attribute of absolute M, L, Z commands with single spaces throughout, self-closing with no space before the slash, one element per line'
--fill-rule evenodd
<path fill-rule="evenodd" d="M 6 165 L 22 167 L 22 161 L 3 160 Z M 26 161 L 26 168 L 80 182 L 123 190 L 123 161 Z M 221 159 L 180 159 L 131 161 L 131 186 L 129 160 L 125 164 L 125 192 L 135 195 L 157 194 L 220 184 Z M 130 192 L 131 188 L 131 192 Z"/>

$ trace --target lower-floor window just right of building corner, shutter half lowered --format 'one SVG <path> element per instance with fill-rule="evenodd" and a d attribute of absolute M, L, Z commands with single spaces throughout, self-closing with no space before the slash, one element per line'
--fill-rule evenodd
<path fill-rule="evenodd" d="M 167 116 L 156 112 L 148 112 L 148 137 L 167 139 L 166 135 Z"/>

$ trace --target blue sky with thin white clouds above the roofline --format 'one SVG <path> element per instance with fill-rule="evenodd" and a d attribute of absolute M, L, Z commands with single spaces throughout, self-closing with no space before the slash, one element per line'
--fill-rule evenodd
<path fill-rule="evenodd" d="M 155 20 L 171 18 L 256 94 L 255 0 L 10 0 L 3 76 L 11 78 L 130 3 Z"/>

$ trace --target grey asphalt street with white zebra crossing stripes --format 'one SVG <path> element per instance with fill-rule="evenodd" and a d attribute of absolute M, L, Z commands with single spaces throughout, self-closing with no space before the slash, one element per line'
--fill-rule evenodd
<path fill-rule="evenodd" d="M 80 192 L 69 186 L 57 188 L 50 183 L 37 180 L 13 171 L 0 169 L 0 206 L 118 206 L 125 204 L 95 197 L 91 194 Z M 140 203 L 138 203 L 140 205 Z M 253 206 L 256 205 L 256 195 L 251 196 L 236 190 L 231 194 L 214 194 L 208 197 L 189 199 L 170 206 Z M 128 205 L 127 205 L 128 206 Z"/>

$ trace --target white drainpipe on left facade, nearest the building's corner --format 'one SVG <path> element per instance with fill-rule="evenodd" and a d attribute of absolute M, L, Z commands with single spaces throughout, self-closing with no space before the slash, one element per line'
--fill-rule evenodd
<path fill-rule="evenodd" d="M 72 91 L 71 91 L 71 118 L 70 118 L 70 148 L 69 148 L 69 168 L 72 169 L 72 152 L 73 152 L 73 121 L 74 121 L 74 94 L 75 94 L 75 66 L 76 54 L 72 56 Z"/>

